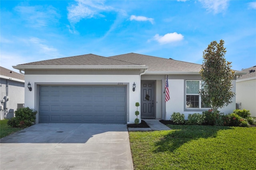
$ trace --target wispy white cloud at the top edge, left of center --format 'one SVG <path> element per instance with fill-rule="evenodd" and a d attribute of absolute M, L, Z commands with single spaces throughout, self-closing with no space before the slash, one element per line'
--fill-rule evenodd
<path fill-rule="evenodd" d="M 104 1 L 76 0 L 76 3 L 68 7 L 70 24 L 76 24 L 83 18 L 104 17 L 100 12 L 113 10 L 112 7 L 105 6 Z"/>

